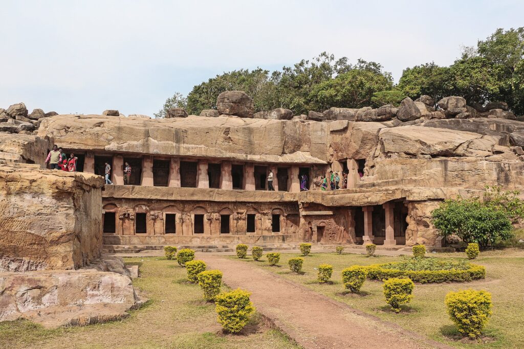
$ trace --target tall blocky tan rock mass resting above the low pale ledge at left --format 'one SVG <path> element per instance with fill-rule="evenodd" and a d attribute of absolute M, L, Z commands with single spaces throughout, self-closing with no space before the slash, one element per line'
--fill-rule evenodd
<path fill-rule="evenodd" d="M 103 179 L 0 165 L 0 272 L 74 269 L 102 252 Z"/>

